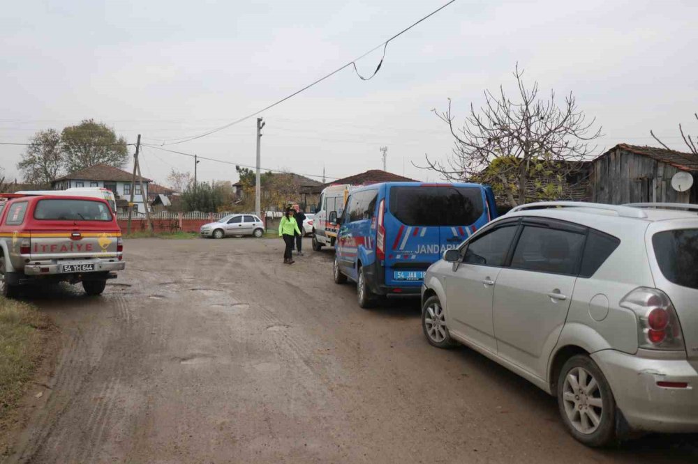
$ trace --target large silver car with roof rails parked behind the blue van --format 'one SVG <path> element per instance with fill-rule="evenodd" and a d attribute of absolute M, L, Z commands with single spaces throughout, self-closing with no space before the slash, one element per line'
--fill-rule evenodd
<path fill-rule="evenodd" d="M 426 339 L 464 343 L 555 395 L 588 446 L 698 432 L 696 210 L 514 208 L 427 270 Z"/>

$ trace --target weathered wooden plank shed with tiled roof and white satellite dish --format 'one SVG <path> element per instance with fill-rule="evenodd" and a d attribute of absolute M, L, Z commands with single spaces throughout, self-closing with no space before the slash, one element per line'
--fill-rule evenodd
<path fill-rule="evenodd" d="M 671 187 L 679 171 L 693 176 L 686 192 Z M 591 188 L 597 203 L 698 203 L 698 159 L 692 153 L 618 144 L 593 160 Z"/>

